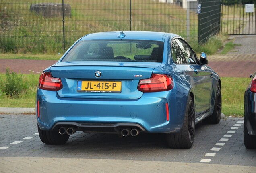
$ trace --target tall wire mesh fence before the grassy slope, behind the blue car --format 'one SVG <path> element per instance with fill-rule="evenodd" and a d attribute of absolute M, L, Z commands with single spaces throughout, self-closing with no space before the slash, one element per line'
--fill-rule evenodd
<path fill-rule="evenodd" d="M 197 44 L 206 25 L 204 19 L 198 25 L 198 1 L 188 1 L 1 0 L 0 52 L 58 53 L 86 34 L 113 30 L 171 32 Z M 207 3 L 199 3 L 203 16 Z M 216 32 L 217 22 L 211 24 L 200 40 Z"/>

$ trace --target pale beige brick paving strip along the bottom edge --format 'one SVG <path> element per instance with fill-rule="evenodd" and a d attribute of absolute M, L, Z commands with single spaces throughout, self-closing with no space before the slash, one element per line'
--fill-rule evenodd
<path fill-rule="evenodd" d="M 40 157 L 0 157 L 2 173 L 255 173 L 256 167 L 180 163 L 162 161 L 130 161 L 111 159 L 72 159 Z"/>

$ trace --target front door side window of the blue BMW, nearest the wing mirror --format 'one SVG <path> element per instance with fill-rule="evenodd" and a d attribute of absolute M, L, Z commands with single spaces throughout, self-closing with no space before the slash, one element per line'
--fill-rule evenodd
<path fill-rule="evenodd" d="M 188 64 L 196 64 L 196 58 L 194 56 L 194 52 L 188 46 L 188 44 L 181 39 L 175 39 L 175 40 L 178 43 L 178 45 L 180 46 Z M 190 62 L 191 60 L 189 58 L 192 58 L 194 60 L 194 62 Z"/>

